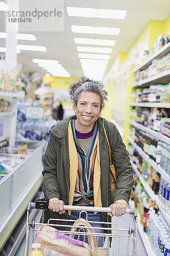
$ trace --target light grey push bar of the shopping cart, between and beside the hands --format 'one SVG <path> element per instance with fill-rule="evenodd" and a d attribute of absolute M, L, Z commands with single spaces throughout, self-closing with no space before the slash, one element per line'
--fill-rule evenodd
<path fill-rule="evenodd" d="M 36 204 L 29 202 L 27 210 L 37 209 Z M 49 209 L 49 208 L 41 208 L 38 209 Z M 79 206 L 79 205 L 64 205 L 64 210 L 72 210 L 72 211 L 86 211 L 86 212 L 111 212 L 110 207 L 88 207 L 88 206 Z M 134 217 L 137 217 L 137 212 L 135 208 L 126 209 L 126 213 L 133 214 Z"/>

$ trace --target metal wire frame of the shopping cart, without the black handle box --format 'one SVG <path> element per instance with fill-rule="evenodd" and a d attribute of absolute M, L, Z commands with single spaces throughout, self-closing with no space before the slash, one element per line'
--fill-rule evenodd
<path fill-rule="evenodd" d="M 37 226 L 40 225 L 47 225 L 47 226 L 52 226 L 52 227 L 73 227 L 72 225 L 69 225 L 68 222 L 75 222 L 75 220 L 64 220 L 64 219 L 49 219 L 48 223 L 44 224 L 44 223 L 35 223 L 33 222 L 29 222 L 29 214 L 30 214 L 30 210 L 31 209 L 35 209 L 35 203 L 29 202 L 28 204 L 28 208 L 27 208 L 27 226 L 26 226 L 26 249 L 25 249 L 25 253 L 24 256 L 28 256 L 28 247 L 29 247 L 29 231 L 30 231 L 30 227 L 32 228 L 32 243 L 34 243 L 34 235 L 35 235 L 35 231 L 37 231 L 38 229 L 36 228 Z M 65 205 L 64 206 L 65 210 L 77 210 L 80 211 L 79 214 L 79 219 L 81 218 L 81 214 L 82 212 L 86 213 L 86 221 L 88 221 L 88 215 L 87 212 L 111 212 L 111 208 L 109 207 L 85 207 L 85 206 L 69 206 L 69 205 Z M 43 212 L 44 209 L 42 209 L 42 216 L 43 216 Z M 79 228 L 79 231 L 62 231 L 62 233 L 66 234 L 66 235 L 77 235 L 78 236 L 78 240 L 80 238 L 80 236 L 83 236 L 83 241 L 85 242 L 86 237 L 90 237 L 92 239 L 93 236 L 96 236 L 96 241 L 98 241 L 99 237 L 103 238 L 103 241 L 105 241 L 106 244 L 106 254 L 104 254 L 104 250 L 102 250 L 102 256 L 119 256 L 119 249 L 120 249 L 120 239 L 122 237 L 127 238 L 127 251 L 126 251 L 126 256 L 129 256 L 129 247 L 130 247 L 130 237 L 133 234 L 133 256 L 138 256 L 138 251 L 137 251 L 137 246 L 136 246 L 136 241 L 137 241 L 137 212 L 136 209 L 126 209 L 126 213 L 132 214 L 133 218 L 134 218 L 134 229 L 132 229 L 131 227 L 129 227 L 129 229 L 119 229 L 118 225 L 116 223 L 113 222 L 99 222 L 99 221 L 88 221 L 89 224 L 111 224 L 111 228 L 105 228 L 105 227 L 92 227 L 95 230 L 108 230 L 108 233 L 91 233 L 91 232 L 85 232 L 86 228 L 89 229 L 89 226 L 81 226 L 81 227 L 77 227 Z M 78 220 L 79 220 L 78 219 Z M 78 221 L 77 220 L 77 221 Z M 55 221 L 65 221 L 65 224 L 55 224 Z M 81 231 L 80 231 L 81 230 Z M 109 233 L 109 230 L 111 230 L 111 233 Z M 124 234 L 125 233 L 125 234 Z M 112 238 L 112 252 L 110 251 L 109 253 L 109 247 L 110 247 L 110 243 L 109 240 L 110 238 Z M 87 240 L 87 239 L 86 239 Z M 89 240 L 88 240 L 89 241 Z M 90 244 L 89 244 L 90 245 Z M 90 245 L 91 246 L 91 245 Z M 103 246 L 104 246 L 104 242 L 103 242 Z M 101 250 L 100 250 L 101 253 Z M 97 256 L 97 249 L 94 255 Z M 101 255 L 101 254 L 100 254 Z"/>

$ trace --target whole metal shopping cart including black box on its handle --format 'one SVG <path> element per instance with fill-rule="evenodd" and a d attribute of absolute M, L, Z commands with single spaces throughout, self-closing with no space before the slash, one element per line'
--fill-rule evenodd
<path fill-rule="evenodd" d="M 47 225 L 51 227 L 55 227 L 59 229 L 59 227 L 65 227 L 68 229 L 68 227 L 72 228 L 73 225 L 71 223 L 75 222 L 75 220 L 64 220 L 64 219 L 49 219 L 48 223 L 35 223 L 34 221 L 29 222 L 29 215 L 31 209 L 42 209 L 42 219 L 43 219 L 43 213 L 45 209 L 48 209 L 48 201 L 46 199 L 37 198 L 35 203 L 29 202 L 28 208 L 27 208 L 27 228 L 26 228 L 26 249 L 24 256 L 28 256 L 28 250 L 29 250 L 29 237 L 30 237 L 30 227 L 32 229 L 32 242 L 34 243 L 35 233 L 38 230 L 38 227 L 41 225 Z M 81 215 L 83 212 L 86 213 L 90 212 L 111 212 L 111 208 L 107 207 L 83 207 L 83 206 L 64 206 L 65 210 L 77 210 L 80 211 L 79 213 L 79 219 L 81 218 Z M 134 228 L 129 227 L 129 229 L 119 229 L 118 225 L 116 223 L 112 222 L 98 222 L 98 221 L 88 221 L 88 218 L 86 217 L 86 221 L 88 221 L 89 224 L 93 226 L 93 224 L 110 224 L 111 226 L 108 228 L 104 227 L 95 227 L 95 233 L 89 232 L 89 225 L 85 226 L 79 226 L 76 227 L 76 231 L 74 228 L 74 231 L 62 231 L 62 233 L 68 235 L 68 236 L 76 236 L 77 239 L 82 241 L 87 241 L 88 244 L 91 247 L 91 243 L 94 240 L 94 237 L 96 238 L 96 243 L 99 239 L 99 237 L 102 237 L 103 239 L 103 246 L 100 247 L 100 251 L 98 251 L 99 247 L 96 247 L 96 250 L 93 251 L 94 256 L 128 256 L 129 255 L 129 249 L 130 249 L 130 238 L 132 235 L 132 242 L 133 242 L 133 250 L 132 250 L 132 256 L 138 256 L 137 246 L 136 246 L 136 239 L 137 239 L 137 212 L 136 209 L 127 209 L 126 213 L 132 214 L 134 218 Z M 78 219 L 78 220 L 79 220 Z M 65 224 L 55 224 L 55 221 L 65 221 Z M 70 224 L 69 224 L 70 223 Z M 88 229 L 88 230 L 86 230 Z M 99 233 L 96 232 L 96 230 L 107 230 L 108 233 Z M 109 233 L 110 232 L 110 233 Z M 81 239 L 80 239 L 81 237 Z M 123 240 L 122 240 L 123 239 Z M 110 244 L 111 241 L 111 244 Z M 124 253 L 122 254 L 120 252 L 120 246 L 123 247 Z M 120 254 L 121 253 L 121 254 Z"/>

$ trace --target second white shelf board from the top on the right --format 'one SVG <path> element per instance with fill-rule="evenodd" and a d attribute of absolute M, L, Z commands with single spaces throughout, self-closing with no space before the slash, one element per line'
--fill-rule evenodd
<path fill-rule="evenodd" d="M 150 76 L 149 78 L 142 79 L 139 82 L 132 84 L 132 88 L 140 87 L 142 85 L 150 85 L 153 83 L 169 83 L 170 82 L 170 70 L 165 70 L 163 72 L 160 72 L 154 76 Z"/>

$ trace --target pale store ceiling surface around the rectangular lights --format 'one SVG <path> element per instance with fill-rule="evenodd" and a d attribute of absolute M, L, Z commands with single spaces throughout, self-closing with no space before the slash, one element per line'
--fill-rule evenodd
<path fill-rule="evenodd" d="M 24 1 L 28 2 L 28 0 L 22 0 L 22 2 Z M 50 0 L 46 2 L 49 6 Z M 74 43 L 74 38 L 78 37 L 116 40 L 115 46 L 112 47 L 113 51 L 108 62 L 106 74 L 116 55 L 119 52 L 128 51 L 150 20 L 165 20 L 170 15 L 170 0 L 64 0 L 64 5 L 63 32 L 30 31 L 30 33 L 37 37 L 37 41 L 18 41 L 18 44 L 36 44 L 43 45 L 47 48 L 47 52 L 21 51 L 21 53 L 18 54 L 18 62 L 23 63 L 23 72 L 42 70 L 37 64 L 32 62 L 32 58 L 43 58 L 58 60 L 72 77 L 82 76 L 82 68 L 76 49 L 78 44 Z M 127 10 L 127 15 L 125 20 L 70 17 L 66 11 L 67 6 L 122 9 Z M 4 12 L 1 11 L 0 32 L 5 32 L 4 15 Z M 115 36 L 73 33 L 71 31 L 71 25 L 117 27 L 120 28 L 120 33 Z M 0 47 L 5 47 L 5 39 L 0 39 Z"/>

